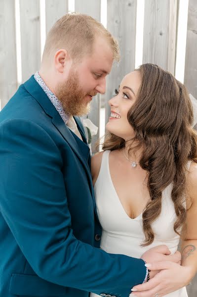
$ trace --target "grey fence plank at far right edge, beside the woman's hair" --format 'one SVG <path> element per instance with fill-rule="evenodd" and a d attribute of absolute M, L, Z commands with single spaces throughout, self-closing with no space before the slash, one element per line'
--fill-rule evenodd
<path fill-rule="evenodd" d="M 184 84 L 197 99 L 197 1 L 189 0 Z M 195 108 L 194 108 L 195 110 Z M 197 125 L 195 127 L 197 129 Z M 197 276 L 187 287 L 188 296 L 197 296 Z"/>

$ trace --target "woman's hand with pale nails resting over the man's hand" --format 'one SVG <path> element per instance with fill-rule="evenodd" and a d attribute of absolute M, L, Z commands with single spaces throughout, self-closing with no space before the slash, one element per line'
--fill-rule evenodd
<path fill-rule="evenodd" d="M 149 282 L 133 287 L 130 297 L 153 297 L 156 293 L 162 297 L 185 287 L 191 280 L 190 269 L 174 262 L 155 262 L 148 268 L 160 272 Z"/>

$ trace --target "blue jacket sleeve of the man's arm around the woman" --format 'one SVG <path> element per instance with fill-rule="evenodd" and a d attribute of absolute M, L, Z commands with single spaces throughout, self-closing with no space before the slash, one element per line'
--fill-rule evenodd
<path fill-rule="evenodd" d="M 0 212 L 42 279 L 100 295 L 128 297 L 144 261 L 80 242 L 73 235 L 60 151 L 27 120 L 0 125 Z"/>

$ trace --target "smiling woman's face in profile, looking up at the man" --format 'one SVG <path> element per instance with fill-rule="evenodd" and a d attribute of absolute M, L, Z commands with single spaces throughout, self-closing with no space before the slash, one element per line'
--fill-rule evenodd
<path fill-rule="evenodd" d="M 111 116 L 106 129 L 124 140 L 134 137 L 133 128 L 127 120 L 127 113 L 137 99 L 140 85 L 140 72 L 130 72 L 121 81 L 117 95 L 109 100 Z"/>

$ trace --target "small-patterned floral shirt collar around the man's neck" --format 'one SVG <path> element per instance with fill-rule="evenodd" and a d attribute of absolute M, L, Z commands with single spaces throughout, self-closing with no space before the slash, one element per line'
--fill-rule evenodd
<path fill-rule="evenodd" d="M 37 81 L 37 83 L 39 84 L 39 86 L 42 88 L 42 90 L 45 92 L 47 97 L 50 99 L 51 103 L 57 109 L 57 111 L 59 112 L 59 114 L 60 114 L 61 118 L 63 119 L 63 121 L 65 122 L 65 124 L 67 124 L 67 122 L 68 122 L 68 120 L 70 118 L 70 115 L 64 112 L 64 109 L 62 107 L 62 103 L 60 102 L 60 100 L 57 99 L 55 94 L 53 94 L 51 92 L 51 90 L 46 86 L 46 84 L 44 83 L 44 81 L 40 77 L 38 71 L 35 73 L 34 78 Z"/>

